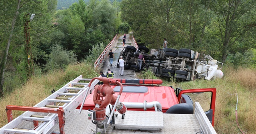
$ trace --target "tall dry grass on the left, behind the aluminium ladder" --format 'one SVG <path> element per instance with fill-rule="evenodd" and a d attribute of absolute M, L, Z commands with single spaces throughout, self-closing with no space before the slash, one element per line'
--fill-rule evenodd
<path fill-rule="evenodd" d="M 84 78 L 98 76 L 92 65 L 79 63 L 77 65 L 68 65 L 66 71 L 52 71 L 46 75 L 32 77 L 26 84 L 14 89 L 12 93 L 0 100 L 0 127 L 7 124 L 5 110 L 7 105 L 34 106 L 48 97 L 52 89 L 60 89 L 60 87 L 79 75 L 83 75 Z M 13 117 L 16 118 L 22 113 L 22 111 L 13 111 Z"/>

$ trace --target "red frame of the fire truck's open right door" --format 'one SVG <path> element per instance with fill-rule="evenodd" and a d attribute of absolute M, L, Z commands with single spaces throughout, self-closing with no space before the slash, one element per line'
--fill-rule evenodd
<path fill-rule="evenodd" d="M 214 112 L 215 112 L 215 101 L 216 101 L 216 89 L 215 88 L 182 90 L 182 91 L 180 91 L 180 93 L 178 95 L 178 102 L 180 102 L 182 94 L 197 93 L 197 92 L 212 92 L 210 109 L 212 109 L 212 126 L 214 126 Z"/>

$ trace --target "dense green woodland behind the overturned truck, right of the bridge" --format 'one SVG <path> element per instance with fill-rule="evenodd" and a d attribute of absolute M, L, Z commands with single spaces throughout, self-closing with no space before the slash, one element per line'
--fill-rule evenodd
<path fill-rule="evenodd" d="M 256 48 L 255 0 L 123 0 L 122 20 L 138 43 L 188 48 L 226 61 Z"/>

